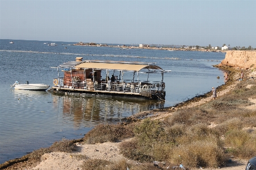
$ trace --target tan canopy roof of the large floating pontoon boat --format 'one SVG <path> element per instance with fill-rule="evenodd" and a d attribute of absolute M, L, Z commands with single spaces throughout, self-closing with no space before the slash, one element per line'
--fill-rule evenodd
<path fill-rule="evenodd" d="M 123 71 L 140 71 L 142 69 L 159 70 L 167 72 L 161 67 L 156 66 L 155 63 L 144 62 L 127 62 L 127 61 L 100 61 L 100 60 L 86 60 L 86 61 L 71 61 L 60 65 L 62 68 L 73 69 L 107 69 L 107 70 L 123 70 Z"/>

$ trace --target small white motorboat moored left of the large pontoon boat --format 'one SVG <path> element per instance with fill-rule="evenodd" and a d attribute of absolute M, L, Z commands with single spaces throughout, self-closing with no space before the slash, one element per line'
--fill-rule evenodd
<path fill-rule="evenodd" d="M 15 90 L 34 90 L 34 91 L 46 91 L 49 88 L 47 84 L 30 84 L 28 81 L 26 84 L 20 84 L 16 81 L 11 87 Z"/>

